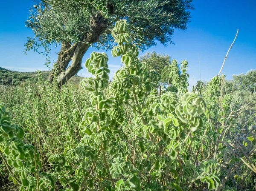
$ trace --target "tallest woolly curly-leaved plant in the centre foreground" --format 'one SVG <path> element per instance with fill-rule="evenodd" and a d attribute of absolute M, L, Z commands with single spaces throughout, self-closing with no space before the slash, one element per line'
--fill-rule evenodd
<path fill-rule="evenodd" d="M 90 87 L 91 90 L 94 89 L 90 94 L 93 94 L 93 100 L 96 100 L 92 102 L 93 107 L 87 109 L 89 113 L 84 116 L 86 118 L 82 122 L 83 128 L 85 129 L 84 132 L 87 133 L 86 136 L 89 135 L 93 139 L 94 143 L 97 142 L 94 145 L 98 148 L 102 147 L 106 150 L 110 147 L 109 149 L 113 150 L 111 148 L 111 142 L 115 141 L 113 132 L 116 131 L 117 133 L 121 130 L 119 134 L 122 134 L 122 128 L 118 128 L 118 124 L 122 124 L 123 122 L 124 111 L 122 105 L 130 105 L 134 113 L 136 124 L 134 131 L 137 134 L 137 143 L 139 144 L 140 151 L 143 153 L 147 151 L 148 154 L 145 155 L 143 160 L 136 161 L 135 164 L 131 160 L 124 160 L 123 156 L 128 153 L 111 154 L 114 157 L 112 160 L 109 160 L 110 163 L 113 161 L 109 165 L 109 173 L 111 174 L 109 178 L 117 178 L 118 181 L 116 182 L 115 190 L 182 190 L 180 184 L 177 184 L 177 181 L 163 185 L 158 182 L 159 177 L 162 176 L 161 173 L 163 174 L 164 168 L 166 169 L 167 167 L 175 174 L 186 171 L 188 168 L 187 165 L 190 165 L 192 169 L 196 168 L 189 161 L 187 161 L 188 163 L 186 165 L 180 164 L 178 155 L 180 150 L 183 149 L 182 140 L 185 139 L 184 131 L 187 129 L 196 131 L 198 128 L 203 128 L 204 122 L 200 115 L 206 111 L 207 102 L 198 93 L 192 92 L 184 94 L 180 102 L 175 93 L 177 92 L 175 88 L 172 88 L 174 92 L 166 91 L 159 96 L 155 89 L 157 88 L 157 82 L 160 80 L 160 75 L 154 70 L 146 71 L 146 65 L 140 63 L 137 58 L 138 48 L 131 43 L 130 34 L 131 31 L 128 29 L 126 20 L 116 22 L 112 36 L 117 46 L 113 48 L 112 55 L 114 57 L 121 56 L 123 67 L 115 73 L 113 81 L 110 84 L 110 93 L 113 97 L 106 98 L 102 95 L 102 88 L 105 88 L 105 86 L 94 86 L 92 88 L 91 84 L 100 83 L 103 80 L 102 77 L 96 75 L 93 78 L 94 83 L 87 83 L 87 78 L 81 82 L 81 86 L 84 88 Z M 91 70 L 87 63 L 91 62 L 88 60 L 95 58 L 95 54 L 101 55 L 101 58 L 99 57 L 93 66 L 89 66 L 94 68 L 94 70 Z M 85 64 L 88 71 L 92 71 L 92 74 L 97 73 L 95 71 L 100 70 L 98 67 L 99 64 L 97 63 L 100 63 L 104 57 L 104 54 L 92 53 L 91 58 Z M 104 60 L 107 61 L 108 59 L 105 58 Z M 107 63 L 102 64 L 102 66 L 107 66 Z M 187 75 L 185 75 L 186 69 L 187 62 L 184 61 L 182 62 L 182 75 L 179 77 L 184 81 L 187 81 Z M 104 78 L 108 79 L 108 77 Z M 186 89 L 187 85 L 184 84 L 182 86 L 180 84 L 179 88 L 180 92 L 183 92 L 183 88 Z M 102 116 L 104 117 L 102 118 Z M 87 126 L 84 125 L 85 123 Z M 103 134 L 105 134 L 105 138 L 102 138 L 101 141 L 94 140 L 94 137 L 102 137 Z M 106 135 L 108 135 L 108 138 Z M 159 142 L 160 137 L 162 137 L 163 141 Z M 134 144 L 136 145 L 136 142 Z M 119 137 L 119 141 L 114 145 L 115 148 L 122 148 L 122 139 Z M 160 150 L 163 153 L 166 151 L 166 154 L 162 157 L 154 156 L 154 153 Z M 180 167 L 178 167 L 179 164 Z M 107 171 L 108 169 L 105 170 L 105 173 Z M 143 180 L 143 177 L 146 176 L 143 174 L 147 173 L 147 171 L 149 171 L 149 174 L 152 174 L 149 182 Z M 217 182 L 219 182 L 218 177 L 214 173 L 213 171 L 212 174 L 202 176 L 202 179 L 212 182 L 212 179 L 216 178 Z M 186 181 L 186 178 L 192 178 L 191 176 L 193 177 L 192 171 L 188 171 L 186 175 L 183 174 L 183 177 L 180 177 L 181 183 Z M 211 188 L 215 188 L 214 185 L 210 186 Z"/>

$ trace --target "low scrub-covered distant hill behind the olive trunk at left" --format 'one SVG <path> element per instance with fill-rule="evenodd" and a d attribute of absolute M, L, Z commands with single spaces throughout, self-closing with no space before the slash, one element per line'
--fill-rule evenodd
<path fill-rule="evenodd" d="M 32 83 L 38 82 L 37 77 L 38 72 L 21 72 L 21 71 L 12 71 L 0 67 L 0 84 L 2 85 L 13 85 L 18 86 L 22 81 L 30 81 Z M 47 77 L 50 74 L 50 71 L 41 71 L 43 80 L 47 80 Z M 69 83 L 79 83 L 83 80 L 84 77 L 73 76 Z"/>

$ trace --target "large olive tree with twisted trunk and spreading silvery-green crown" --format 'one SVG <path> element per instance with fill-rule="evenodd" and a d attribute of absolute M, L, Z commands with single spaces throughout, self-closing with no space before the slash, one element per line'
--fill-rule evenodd
<path fill-rule="evenodd" d="M 187 28 L 191 9 L 192 0 L 38 0 L 26 20 L 35 37 L 25 51 L 42 53 L 43 47 L 49 55 L 50 45 L 61 45 L 48 80 L 55 74 L 62 86 L 82 68 L 90 46 L 112 48 L 111 29 L 117 20 L 128 20 L 133 43 L 145 49 L 156 41 L 172 43 L 174 30 Z"/>

